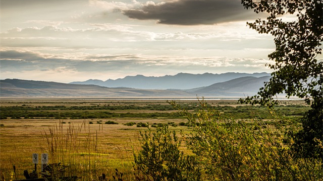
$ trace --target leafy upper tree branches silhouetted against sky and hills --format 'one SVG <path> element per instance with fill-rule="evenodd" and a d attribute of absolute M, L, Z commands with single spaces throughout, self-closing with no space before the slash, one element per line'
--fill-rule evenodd
<path fill-rule="evenodd" d="M 323 62 L 316 56 L 322 51 L 323 1 L 242 0 L 242 4 L 256 13 L 268 13 L 266 20 L 258 19 L 247 24 L 259 33 L 271 33 L 276 45 L 276 50 L 268 55 L 275 64 L 267 65 L 275 71 L 259 95 L 252 97 L 252 102 L 270 103 L 281 93 L 286 93 L 287 97 L 305 98 L 307 103 L 309 98 L 321 99 Z M 281 16 L 286 14 L 295 15 L 297 20 L 282 20 Z"/>

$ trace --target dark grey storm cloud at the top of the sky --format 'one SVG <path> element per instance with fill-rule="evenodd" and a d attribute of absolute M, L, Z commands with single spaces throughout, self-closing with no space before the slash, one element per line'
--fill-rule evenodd
<path fill-rule="evenodd" d="M 255 19 L 255 13 L 245 10 L 240 0 L 179 0 L 152 4 L 140 10 L 125 10 L 124 15 L 138 20 L 158 20 L 160 24 L 212 25 Z"/>

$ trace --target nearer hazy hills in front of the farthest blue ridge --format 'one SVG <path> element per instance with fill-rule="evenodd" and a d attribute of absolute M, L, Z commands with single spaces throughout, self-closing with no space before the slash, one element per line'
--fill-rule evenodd
<path fill-rule="evenodd" d="M 255 95 L 270 77 L 244 76 L 192 89 L 109 88 L 98 85 L 5 79 L 0 80 L 0 97 L 243 98 Z"/>

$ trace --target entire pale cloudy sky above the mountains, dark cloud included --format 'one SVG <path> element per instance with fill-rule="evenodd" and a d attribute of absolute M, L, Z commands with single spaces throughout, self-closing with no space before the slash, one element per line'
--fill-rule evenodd
<path fill-rule="evenodd" d="M 246 25 L 261 17 L 240 0 L 2 0 L 0 78 L 271 72 L 274 38 Z"/>

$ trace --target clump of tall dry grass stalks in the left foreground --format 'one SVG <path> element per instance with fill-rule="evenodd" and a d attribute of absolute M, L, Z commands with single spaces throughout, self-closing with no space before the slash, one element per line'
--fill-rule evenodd
<path fill-rule="evenodd" d="M 98 152 L 97 132 L 91 133 L 85 120 L 78 127 L 69 124 L 66 130 L 63 123 L 49 127 L 41 134 L 46 145 L 40 146 L 42 153 L 48 153 L 49 164 L 61 163 L 67 166 L 65 176 L 78 176 L 79 180 L 95 180 L 102 173 L 102 154 Z M 53 177 L 62 174 L 52 175 Z"/>

